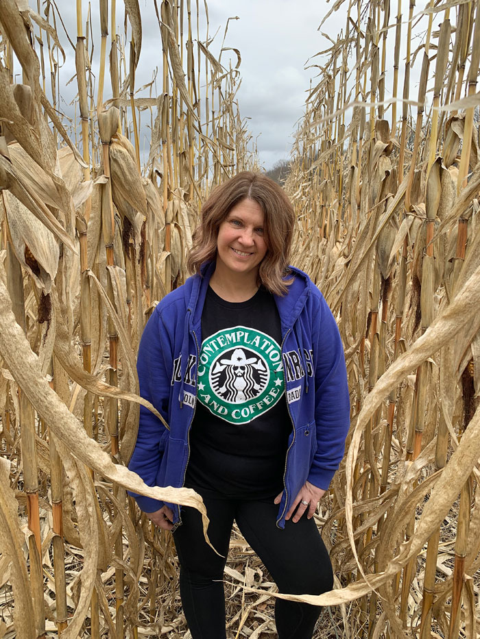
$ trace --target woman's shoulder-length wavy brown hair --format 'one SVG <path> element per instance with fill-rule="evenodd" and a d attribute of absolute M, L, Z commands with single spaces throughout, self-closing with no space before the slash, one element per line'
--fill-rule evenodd
<path fill-rule="evenodd" d="M 290 272 L 295 214 L 283 188 L 264 173 L 243 171 L 213 189 L 202 206 L 202 221 L 193 234 L 193 248 L 187 262 L 189 271 L 200 273 L 202 264 L 215 260 L 219 226 L 244 199 L 258 203 L 265 216 L 267 253 L 260 263 L 259 283 L 276 295 L 285 295 L 292 281 L 286 276 Z"/>

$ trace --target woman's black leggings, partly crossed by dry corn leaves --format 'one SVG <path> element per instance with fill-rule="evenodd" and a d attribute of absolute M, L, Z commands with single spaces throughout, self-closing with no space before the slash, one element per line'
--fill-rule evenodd
<path fill-rule="evenodd" d="M 322 594 L 333 587 L 330 557 L 313 519 L 276 526 L 274 497 L 262 501 L 204 497 L 210 518 L 208 537 L 227 555 L 233 520 L 286 594 Z M 180 560 L 180 595 L 193 639 L 225 639 L 225 557 L 206 544 L 202 518 L 194 508 L 182 508 L 182 525 L 173 533 Z M 320 607 L 276 599 L 279 639 L 311 639 Z"/>

